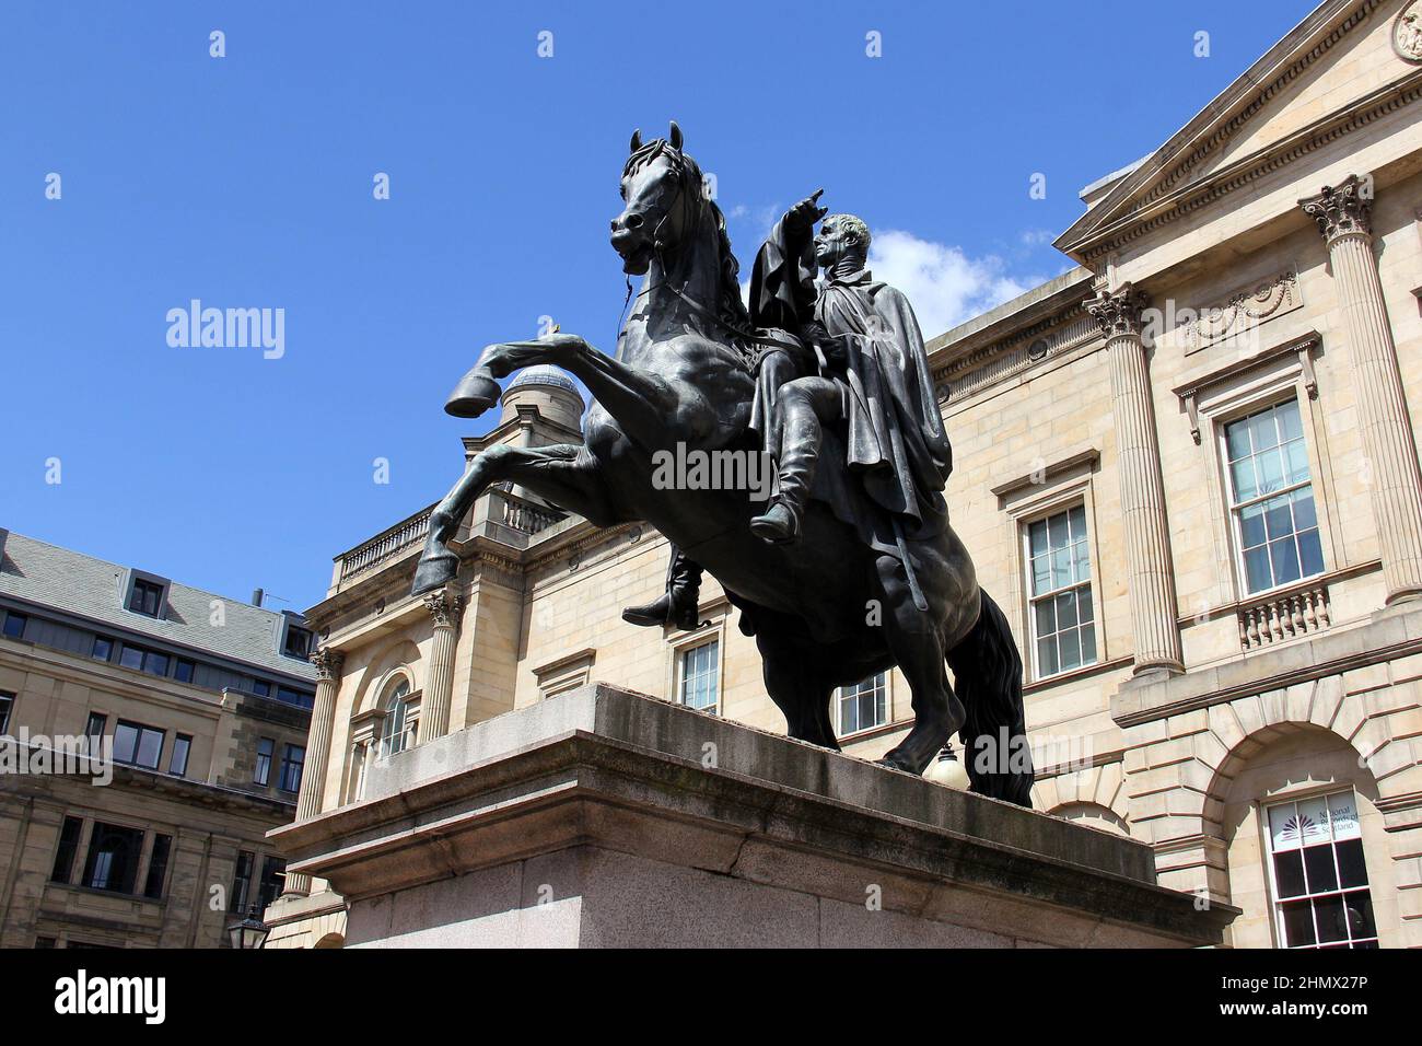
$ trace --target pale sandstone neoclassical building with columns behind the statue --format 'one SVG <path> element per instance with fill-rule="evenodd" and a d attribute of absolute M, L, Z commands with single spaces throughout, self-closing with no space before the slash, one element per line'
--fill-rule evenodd
<path fill-rule="evenodd" d="M 930 343 L 953 525 L 1028 666 L 1038 810 L 1148 841 L 1234 946 L 1422 946 L 1422 0 L 1330 0 L 1082 192 L 1065 275 Z M 1086 132 L 1089 134 L 1089 131 Z M 873 219 L 872 213 L 866 218 Z M 577 438 L 546 369 L 465 441 Z M 451 475 L 458 461 L 451 463 Z M 371 760 L 589 680 L 782 730 L 714 582 L 620 620 L 665 542 L 491 490 L 410 598 L 429 509 L 336 558 L 300 817 Z M 912 717 L 839 694 L 846 751 Z M 293 875 L 269 946 L 336 942 Z"/>

